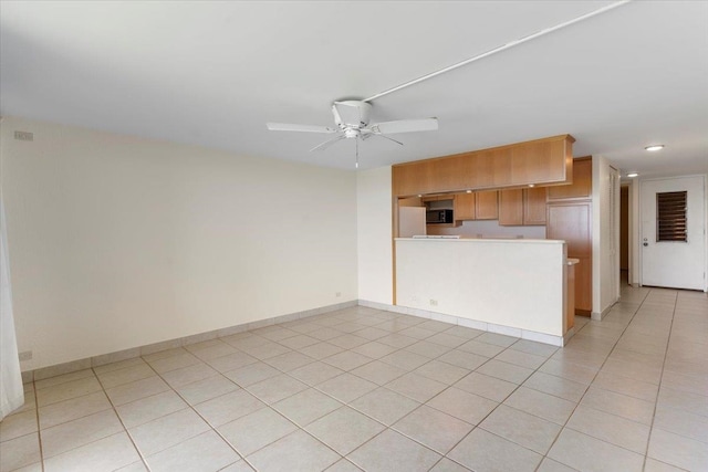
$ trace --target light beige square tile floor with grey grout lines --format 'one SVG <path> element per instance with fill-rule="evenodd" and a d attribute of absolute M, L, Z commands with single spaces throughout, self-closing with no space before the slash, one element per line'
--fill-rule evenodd
<path fill-rule="evenodd" d="M 0 470 L 707 471 L 708 297 L 564 348 L 353 307 L 25 385 Z"/>

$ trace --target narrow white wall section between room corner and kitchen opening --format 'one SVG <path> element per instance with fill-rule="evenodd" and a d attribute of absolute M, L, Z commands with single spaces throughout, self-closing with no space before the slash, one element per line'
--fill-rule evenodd
<path fill-rule="evenodd" d="M 391 167 L 356 177 L 358 297 L 393 304 L 393 197 Z"/>

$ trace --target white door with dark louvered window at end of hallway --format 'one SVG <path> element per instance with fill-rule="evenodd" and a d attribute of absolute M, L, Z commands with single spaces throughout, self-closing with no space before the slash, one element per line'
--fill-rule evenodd
<path fill-rule="evenodd" d="M 683 198 L 686 192 L 686 238 L 666 240 L 658 231 L 657 201 L 662 198 Z M 641 183 L 641 254 L 642 284 L 674 289 L 706 289 L 706 209 L 702 176 L 644 180 Z M 667 210 L 668 214 L 668 210 Z M 664 218 L 666 221 L 666 217 Z"/>

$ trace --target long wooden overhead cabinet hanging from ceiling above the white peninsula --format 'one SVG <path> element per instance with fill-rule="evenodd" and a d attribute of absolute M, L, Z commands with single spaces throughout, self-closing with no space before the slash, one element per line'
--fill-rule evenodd
<path fill-rule="evenodd" d="M 569 183 L 574 140 L 562 135 L 395 165 L 394 196 Z"/>

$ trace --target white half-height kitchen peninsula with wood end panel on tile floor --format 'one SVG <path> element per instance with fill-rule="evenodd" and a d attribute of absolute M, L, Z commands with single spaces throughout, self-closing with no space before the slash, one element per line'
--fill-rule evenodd
<path fill-rule="evenodd" d="M 564 241 L 397 238 L 395 245 L 396 305 L 408 313 L 556 346 L 572 334 Z"/>

